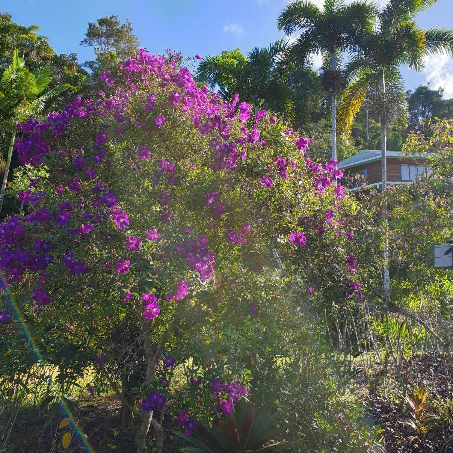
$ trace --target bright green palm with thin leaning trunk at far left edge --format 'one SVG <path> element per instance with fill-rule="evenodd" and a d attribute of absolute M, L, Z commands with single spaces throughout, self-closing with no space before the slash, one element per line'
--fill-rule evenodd
<path fill-rule="evenodd" d="M 52 70 L 49 67 L 44 66 L 35 72 L 30 72 L 24 66 L 24 60 L 19 57 L 17 49 L 14 50 L 12 63 L 5 69 L 0 78 L 2 131 L 11 134 L 0 190 L 0 211 L 5 197 L 17 125 L 41 112 L 47 100 L 58 96 L 70 87 L 69 84 L 61 84 L 45 91 L 51 80 Z"/>

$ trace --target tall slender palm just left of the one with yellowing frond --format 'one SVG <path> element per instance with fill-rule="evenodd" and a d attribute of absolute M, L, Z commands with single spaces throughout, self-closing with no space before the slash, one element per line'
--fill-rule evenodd
<path fill-rule="evenodd" d="M 330 70 L 323 77 L 330 93 L 332 108 L 332 158 L 337 159 L 336 98 L 340 91 L 342 74 L 338 69 L 341 52 L 354 48 L 357 36 L 370 32 L 374 7 L 368 2 L 326 0 L 321 11 L 310 1 L 296 0 L 279 15 L 277 25 L 286 35 L 299 31 L 300 36 L 288 52 L 289 60 L 305 62 L 313 54 L 321 53 L 328 60 Z"/>

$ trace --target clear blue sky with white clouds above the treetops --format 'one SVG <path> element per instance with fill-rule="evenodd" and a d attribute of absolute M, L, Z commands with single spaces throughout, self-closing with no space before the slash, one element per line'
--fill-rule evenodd
<path fill-rule="evenodd" d="M 350 1 L 350 0 L 348 0 Z M 386 0 L 378 0 L 385 4 Z M 2 0 L 0 11 L 9 12 L 23 25 L 37 24 L 58 53 L 78 53 L 79 61 L 92 59 L 90 48 L 80 46 L 88 22 L 118 14 L 128 18 L 142 47 L 150 52 L 167 48 L 187 56 L 215 54 L 240 48 L 247 52 L 284 37 L 276 18 L 288 0 Z M 314 0 L 322 5 L 323 0 Z M 453 0 L 438 0 L 418 16 L 423 28 L 451 28 Z M 315 58 L 316 64 L 316 58 Z M 416 73 L 403 68 L 407 89 L 429 82 L 453 97 L 453 58 L 431 56 L 427 68 Z"/>

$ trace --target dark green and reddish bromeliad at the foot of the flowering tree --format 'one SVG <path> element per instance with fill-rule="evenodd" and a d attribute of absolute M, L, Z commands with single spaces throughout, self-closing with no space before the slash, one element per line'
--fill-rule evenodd
<path fill-rule="evenodd" d="M 201 425 L 199 436 L 189 442 L 195 447 L 185 447 L 182 453 L 241 453 L 244 451 L 281 451 L 282 433 L 285 424 L 277 425 L 278 412 L 271 414 L 273 405 L 255 409 L 255 405 L 240 400 L 235 411 L 226 417 L 219 417 L 214 426 Z M 176 432 L 177 435 L 180 433 Z"/>

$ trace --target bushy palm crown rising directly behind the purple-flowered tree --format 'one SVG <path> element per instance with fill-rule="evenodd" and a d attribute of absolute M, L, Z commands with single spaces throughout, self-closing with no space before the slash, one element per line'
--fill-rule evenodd
<path fill-rule="evenodd" d="M 224 99 L 236 93 L 243 101 L 252 101 L 257 111 L 260 106 L 281 112 L 292 118 L 294 105 L 281 55 L 287 43 L 277 41 L 269 47 L 255 47 L 247 56 L 239 49 L 207 56 L 197 70 L 197 80 L 218 87 Z"/>

